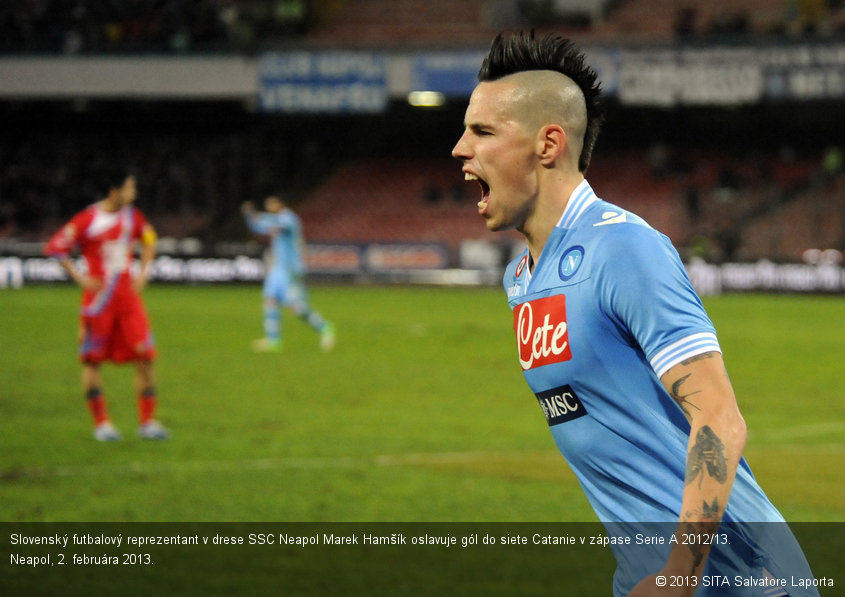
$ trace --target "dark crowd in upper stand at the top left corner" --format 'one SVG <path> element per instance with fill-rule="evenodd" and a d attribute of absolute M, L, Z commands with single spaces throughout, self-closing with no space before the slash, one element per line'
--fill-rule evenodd
<path fill-rule="evenodd" d="M 249 51 L 307 16 L 306 0 L 4 0 L 0 51 Z"/>

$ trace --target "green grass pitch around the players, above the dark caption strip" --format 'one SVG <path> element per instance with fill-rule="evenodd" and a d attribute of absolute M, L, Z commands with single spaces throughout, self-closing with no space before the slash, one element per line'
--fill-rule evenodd
<path fill-rule="evenodd" d="M 134 435 L 129 368 L 105 367 L 124 440 L 79 387 L 78 291 L 0 292 L 0 521 L 595 520 L 522 380 L 498 289 L 318 286 L 333 352 L 285 317 L 254 354 L 257 286 L 146 292 L 167 442 Z M 749 427 L 746 456 L 790 521 L 845 520 L 845 301 L 705 305 Z"/>

